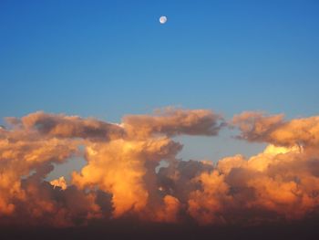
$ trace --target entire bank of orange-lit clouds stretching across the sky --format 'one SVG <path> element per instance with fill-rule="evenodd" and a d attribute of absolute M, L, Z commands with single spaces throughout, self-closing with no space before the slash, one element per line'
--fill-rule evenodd
<path fill-rule="evenodd" d="M 319 117 L 243 112 L 226 123 L 211 110 L 168 108 L 120 124 L 63 114 L 6 118 L 0 128 L 0 225 L 66 227 L 135 219 L 201 225 L 261 224 L 318 214 Z M 237 128 L 259 154 L 181 161 L 178 135 Z M 54 164 L 87 164 L 48 183 Z M 160 167 L 160 162 L 167 166 Z M 158 169 L 158 171 L 156 171 Z"/>

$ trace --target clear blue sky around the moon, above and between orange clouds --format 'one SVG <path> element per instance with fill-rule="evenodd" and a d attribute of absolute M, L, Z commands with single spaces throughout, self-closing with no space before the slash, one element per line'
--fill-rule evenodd
<path fill-rule="evenodd" d="M 164 106 L 315 115 L 319 1 L 1 0 L 0 83 L 0 118 L 119 121 Z M 184 152 L 245 148 L 214 141 L 185 139 Z"/>

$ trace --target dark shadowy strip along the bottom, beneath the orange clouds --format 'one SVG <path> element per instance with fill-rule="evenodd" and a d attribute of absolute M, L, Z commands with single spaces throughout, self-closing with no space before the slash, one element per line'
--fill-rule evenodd
<path fill-rule="evenodd" d="M 258 226 L 198 226 L 196 224 L 136 224 L 115 221 L 72 228 L 0 228 L 0 239 L 245 239 L 283 240 L 319 238 L 319 218 L 290 224 Z"/>

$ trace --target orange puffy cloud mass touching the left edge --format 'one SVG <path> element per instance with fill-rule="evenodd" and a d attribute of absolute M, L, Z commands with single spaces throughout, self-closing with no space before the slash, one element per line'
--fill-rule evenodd
<path fill-rule="evenodd" d="M 19 136 L 21 139 L 19 140 Z M 69 140 L 35 139 L 20 131 L 5 130 L 0 135 L 0 214 L 12 214 L 19 202 L 27 199 L 21 179 L 40 171 L 48 163 L 62 163 L 77 152 Z M 52 171 L 52 170 L 51 170 Z"/>

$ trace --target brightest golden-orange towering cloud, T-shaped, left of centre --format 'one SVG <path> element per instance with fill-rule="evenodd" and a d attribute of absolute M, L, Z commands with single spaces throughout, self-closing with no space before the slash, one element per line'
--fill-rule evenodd
<path fill-rule="evenodd" d="M 128 211 L 140 212 L 149 196 L 143 180 L 145 163 L 170 159 L 178 151 L 180 144 L 167 138 L 91 143 L 86 150 L 87 166 L 80 173 L 74 172 L 73 183 L 82 189 L 98 186 L 112 193 L 116 217 Z"/>

